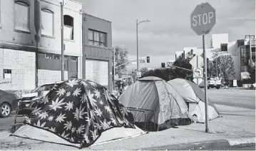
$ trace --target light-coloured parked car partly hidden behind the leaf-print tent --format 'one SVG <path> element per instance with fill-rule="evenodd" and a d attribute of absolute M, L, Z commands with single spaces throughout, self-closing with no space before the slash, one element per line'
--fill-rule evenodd
<path fill-rule="evenodd" d="M 62 83 L 63 81 L 56 82 Z M 33 100 L 39 96 L 45 96 L 47 93 L 53 88 L 55 83 L 47 83 L 44 85 L 40 85 L 38 88 L 33 90 L 31 93 L 26 93 L 22 95 L 23 100 L 26 102 L 26 107 L 29 107 L 29 104 L 33 102 Z"/>

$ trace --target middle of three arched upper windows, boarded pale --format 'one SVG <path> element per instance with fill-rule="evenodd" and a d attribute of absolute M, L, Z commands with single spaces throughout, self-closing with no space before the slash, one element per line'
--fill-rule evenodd
<path fill-rule="evenodd" d="M 54 16 L 53 11 L 48 9 L 42 9 L 41 11 L 41 34 L 46 36 L 53 36 L 54 35 Z"/>

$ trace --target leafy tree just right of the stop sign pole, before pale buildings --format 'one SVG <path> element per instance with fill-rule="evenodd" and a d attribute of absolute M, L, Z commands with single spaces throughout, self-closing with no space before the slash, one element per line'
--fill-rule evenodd
<path fill-rule="evenodd" d="M 220 66 L 217 66 L 218 70 L 220 70 L 220 76 L 225 80 L 225 82 L 228 82 L 228 78 L 235 75 L 235 66 L 234 61 L 232 60 L 232 56 L 230 55 L 222 55 L 219 56 L 218 59 L 220 59 Z"/>

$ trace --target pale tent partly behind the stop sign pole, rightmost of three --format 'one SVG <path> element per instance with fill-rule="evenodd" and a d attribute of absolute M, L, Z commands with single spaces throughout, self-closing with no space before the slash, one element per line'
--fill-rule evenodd
<path fill-rule="evenodd" d="M 180 96 L 188 103 L 189 113 L 193 120 L 198 123 L 205 123 L 205 93 L 195 83 L 175 78 L 169 80 L 168 83 L 177 90 Z M 213 120 L 219 117 L 220 114 L 215 108 L 215 105 L 208 98 L 208 118 Z"/>

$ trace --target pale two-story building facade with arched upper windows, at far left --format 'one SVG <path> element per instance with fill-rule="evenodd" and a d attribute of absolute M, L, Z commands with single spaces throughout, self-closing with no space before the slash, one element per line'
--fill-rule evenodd
<path fill-rule="evenodd" d="M 82 77 L 82 5 L 63 7 L 65 79 Z M 33 90 L 61 80 L 58 0 L 0 0 L 0 89 Z"/>

